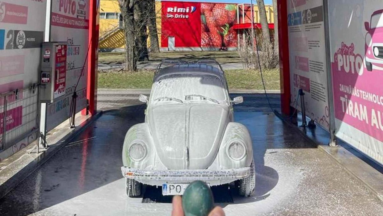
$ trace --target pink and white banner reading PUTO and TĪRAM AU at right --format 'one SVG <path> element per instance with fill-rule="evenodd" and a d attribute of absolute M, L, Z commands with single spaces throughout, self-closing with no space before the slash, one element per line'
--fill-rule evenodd
<path fill-rule="evenodd" d="M 329 1 L 336 136 L 383 164 L 383 1 Z"/>

